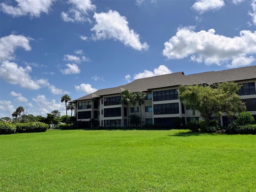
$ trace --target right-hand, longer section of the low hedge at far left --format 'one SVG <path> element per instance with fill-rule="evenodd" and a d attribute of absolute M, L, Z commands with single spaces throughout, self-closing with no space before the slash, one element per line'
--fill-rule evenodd
<path fill-rule="evenodd" d="M 17 123 L 15 126 L 18 133 L 45 132 L 48 129 L 48 125 L 42 122 Z"/>

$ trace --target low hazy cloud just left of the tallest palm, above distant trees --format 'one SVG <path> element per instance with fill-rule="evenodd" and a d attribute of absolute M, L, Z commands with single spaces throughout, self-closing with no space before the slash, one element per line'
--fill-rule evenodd
<path fill-rule="evenodd" d="M 66 113 L 65 104 L 59 102 L 56 103 L 56 100 L 48 101 L 45 95 L 38 95 L 36 98 L 32 99 L 40 107 L 38 115 L 46 116 L 47 113 L 52 112 L 53 110 L 58 110 L 62 114 Z"/>

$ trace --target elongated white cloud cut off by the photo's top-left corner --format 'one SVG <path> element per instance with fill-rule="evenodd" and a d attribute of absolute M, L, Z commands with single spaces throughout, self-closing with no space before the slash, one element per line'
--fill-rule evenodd
<path fill-rule="evenodd" d="M 16 0 L 16 7 L 1 3 L 1 10 L 12 16 L 30 15 L 40 17 L 41 13 L 48 14 L 54 0 Z"/>

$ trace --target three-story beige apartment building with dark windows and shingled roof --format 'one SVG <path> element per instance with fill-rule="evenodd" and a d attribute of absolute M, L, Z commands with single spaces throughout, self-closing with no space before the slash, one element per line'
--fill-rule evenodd
<path fill-rule="evenodd" d="M 167 124 L 172 127 L 172 119 L 181 117 L 184 122 L 191 118 L 199 118 L 192 115 L 190 109 L 186 109 L 178 99 L 178 86 L 194 84 L 215 84 L 234 81 L 242 84 L 238 93 L 242 101 L 246 102 L 247 111 L 256 119 L 256 66 L 243 68 L 211 71 L 198 74 L 185 75 L 176 72 L 160 76 L 153 76 L 134 80 L 131 83 L 98 90 L 72 102 L 75 103 L 75 116 L 83 122 L 85 127 L 90 126 L 90 119 L 98 120 L 100 126 L 126 127 L 128 114 L 126 104 L 120 104 L 123 90 L 131 92 L 143 91 L 147 94 L 144 104 L 141 106 L 143 122 L 147 124 Z M 139 113 L 139 106 L 130 106 L 130 113 Z M 222 118 L 212 117 L 221 125 L 228 124 L 228 118 L 222 114 Z"/>

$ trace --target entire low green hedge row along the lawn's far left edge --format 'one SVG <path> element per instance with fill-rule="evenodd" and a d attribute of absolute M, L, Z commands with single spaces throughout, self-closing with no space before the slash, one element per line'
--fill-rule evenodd
<path fill-rule="evenodd" d="M 0 134 L 45 132 L 48 125 L 42 122 L 6 123 L 0 122 Z"/>

